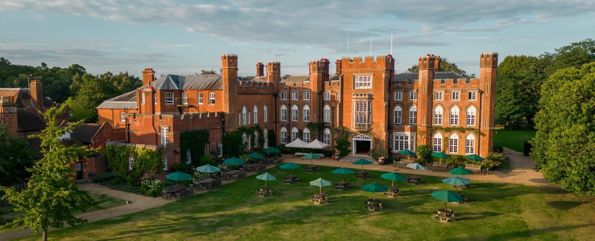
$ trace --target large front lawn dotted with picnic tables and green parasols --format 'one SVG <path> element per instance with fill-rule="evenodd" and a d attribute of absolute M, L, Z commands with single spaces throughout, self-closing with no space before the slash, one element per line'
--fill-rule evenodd
<path fill-rule="evenodd" d="M 348 165 L 348 164 L 347 164 Z M 441 223 L 432 212 L 444 207 L 430 193 L 448 189 L 443 177 L 424 176 L 426 184 L 396 182 L 402 197 L 381 198 L 384 211 L 368 211 L 362 202 L 372 197 L 359 188 L 371 182 L 390 185 L 381 172 L 368 180 L 355 180 L 351 191 L 322 188 L 333 201 L 315 205 L 308 198 L 318 187 L 309 181 L 322 177 L 337 182 L 336 167 L 321 166 L 319 173 L 296 169 L 302 182 L 287 185 L 289 173 L 267 170 L 278 180 L 268 182 L 274 196 L 255 191 L 264 181 L 255 176 L 181 199 L 161 207 L 123 215 L 120 220 L 99 220 L 76 228 L 49 232 L 50 240 L 592 240 L 595 235 L 594 199 L 562 189 L 472 181 L 464 204 L 449 204 L 459 220 Z M 38 240 L 39 236 L 23 240 Z"/>

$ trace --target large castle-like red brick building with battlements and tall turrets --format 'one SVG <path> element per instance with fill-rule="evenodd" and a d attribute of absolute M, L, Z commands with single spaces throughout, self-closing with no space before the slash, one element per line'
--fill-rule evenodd
<path fill-rule="evenodd" d="M 266 72 L 257 63 L 255 76 L 239 77 L 236 55 L 221 56 L 222 74 L 156 79 L 148 68 L 142 87 L 98 106 L 99 122 L 126 133 L 111 138 L 114 143 L 162 148 L 166 173 L 186 156 L 180 155 L 182 132 L 208 130 L 206 153 L 217 157 L 224 131 L 253 125 L 264 135 L 274 130 L 278 144 L 300 138 L 333 146 L 331 129 L 346 126 L 354 154 L 427 144 L 434 151 L 486 156 L 493 145 L 497 53 L 482 53 L 480 78 L 471 79 L 441 72 L 439 56 L 418 61 L 418 73 L 396 73 L 390 55 L 343 58 L 330 74 L 330 61 L 320 59 L 309 63 L 308 75 L 287 78 L 279 62 L 268 62 Z M 320 122 L 321 131 L 308 128 Z M 448 127 L 459 128 L 445 132 L 453 129 Z M 246 133 L 248 149 L 258 145 L 250 143 L 251 135 L 258 133 Z"/>

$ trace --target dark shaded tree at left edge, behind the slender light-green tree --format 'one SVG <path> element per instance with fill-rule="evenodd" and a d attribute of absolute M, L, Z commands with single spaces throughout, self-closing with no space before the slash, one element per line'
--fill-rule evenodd
<path fill-rule="evenodd" d="M 0 145 L 0 185 L 24 182 L 30 176 L 27 169 L 33 166 L 29 145 L 11 135 L 5 125 L 0 125 Z"/>

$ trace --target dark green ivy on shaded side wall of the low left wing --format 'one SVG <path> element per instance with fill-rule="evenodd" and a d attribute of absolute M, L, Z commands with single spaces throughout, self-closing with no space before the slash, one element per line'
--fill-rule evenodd
<path fill-rule="evenodd" d="M 205 145 L 209 142 L 206 130 L 184 131 L 180 135 L 180 162 L 186 163 L 186 150 L 190 150 L 193 166 L 198 166 L 200 157 L 205 156 Z"/>

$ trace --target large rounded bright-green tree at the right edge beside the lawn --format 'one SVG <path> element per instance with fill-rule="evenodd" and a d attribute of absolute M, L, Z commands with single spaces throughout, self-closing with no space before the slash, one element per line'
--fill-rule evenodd
<path fill-rule="evenodd" d="M 550 182 L 595 195 L 595 62 L 559 69 L 541 87 L 530 157 Z"/>

